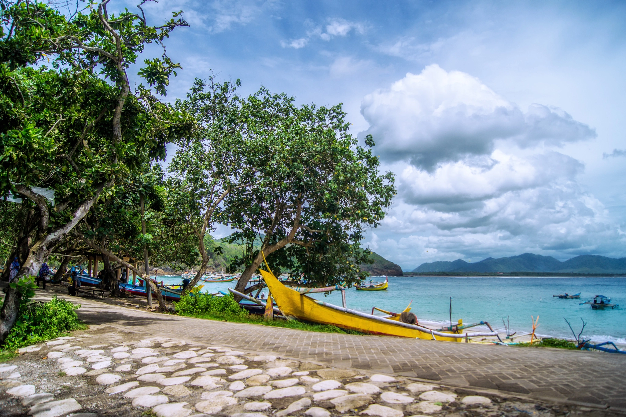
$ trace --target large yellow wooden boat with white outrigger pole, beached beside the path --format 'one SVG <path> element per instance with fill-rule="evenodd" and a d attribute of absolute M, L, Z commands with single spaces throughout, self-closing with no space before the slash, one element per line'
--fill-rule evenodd
<path fill-rule="evenodd" d="M 462 341 L 475 336 L 495 336 L 492 333 L 443 333 L 416 324 L 394 321 L 373 314 L 362 313 L 333 304 L 317 301 L 309 296 L 287 288 L 274 276 L 260 269 L 265 284 L 280 312 L 288 319 L 300 319 L 314 323 L 332 324 L 369 334 L 399 336 L 403 338 L 434 339 L 439 341 Z M 230 290 L 230 289 L 229 289 Z M 233 292 L 233 290 L 230 290 Z"/>

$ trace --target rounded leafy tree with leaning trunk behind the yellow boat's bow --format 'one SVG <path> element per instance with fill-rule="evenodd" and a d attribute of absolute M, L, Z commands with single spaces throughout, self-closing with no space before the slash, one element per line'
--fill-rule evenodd
<path fill-rule="evenodd" d="M 232 241 L 250 249 L 255 238 L 262 243 L 239 259 L 245 270 L 237 290 L 244 291 L 263 256 L 272 269 L 307 273 L 324 286 L 364 278 L 358 267 L 367 259 L 362 233 L 379 224 L 395 194 L 393 174 L 379 174 L 372 136 L 366 148 L 358 146 L 341 105 L 297 107 L 267 89 L 239 111 L 259 183 L 225 196 L 223 213 L 237 229 Z"/>

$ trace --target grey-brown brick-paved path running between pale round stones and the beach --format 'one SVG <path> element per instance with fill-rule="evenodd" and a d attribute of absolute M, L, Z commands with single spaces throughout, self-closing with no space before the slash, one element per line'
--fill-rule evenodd
<path fill-rule="evenodd" d="M 626 409 L 626 355 L 306 332 L 156 314 L 95 299 L 68 299 L 82 304 L 78 314 L 88 324 L 106 323 L 338 368 Z"/>

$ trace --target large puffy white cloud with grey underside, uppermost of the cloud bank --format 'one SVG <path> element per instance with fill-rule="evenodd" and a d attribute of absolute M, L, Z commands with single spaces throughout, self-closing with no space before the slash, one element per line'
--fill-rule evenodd
<path fill-rule="evenodd" d="M 436 64 L 368 94 L 361 113 L 383 159 L 407 160 L 429 171 L 439 163 L 489 155 L 498 140 L 527 148 L 596 136 L 560 109 L 533 104 L 523 112 L 478 78 Z"/>

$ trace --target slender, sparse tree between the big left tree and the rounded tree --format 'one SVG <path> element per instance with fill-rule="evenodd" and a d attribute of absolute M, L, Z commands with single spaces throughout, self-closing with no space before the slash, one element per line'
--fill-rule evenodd
<path fill-rule="evenodd" d="M 255 152 L 242 136 L 241 104 L 235 94 L 239 86 L 239 80 L 215 83 L 214 75 L 207 82 L 196 79 L 187 99 L 177 103 L 198 123 L 190 136 L 178 142 L 169 168 L 175 174 L 168 185 L 170 196 L 176 199 L 173 206 L 178 209 L 178 216 L 186 219 L 185 228 L 195 237 L 200 254 L 200 268 L 187 291 L 207 270 L 210 254 L 205 240 L 213 222 L 224 216 L 224 199 L 242 193 L 259 180 Z M 215 253 L 220 250 L 218 246 Z"/>

